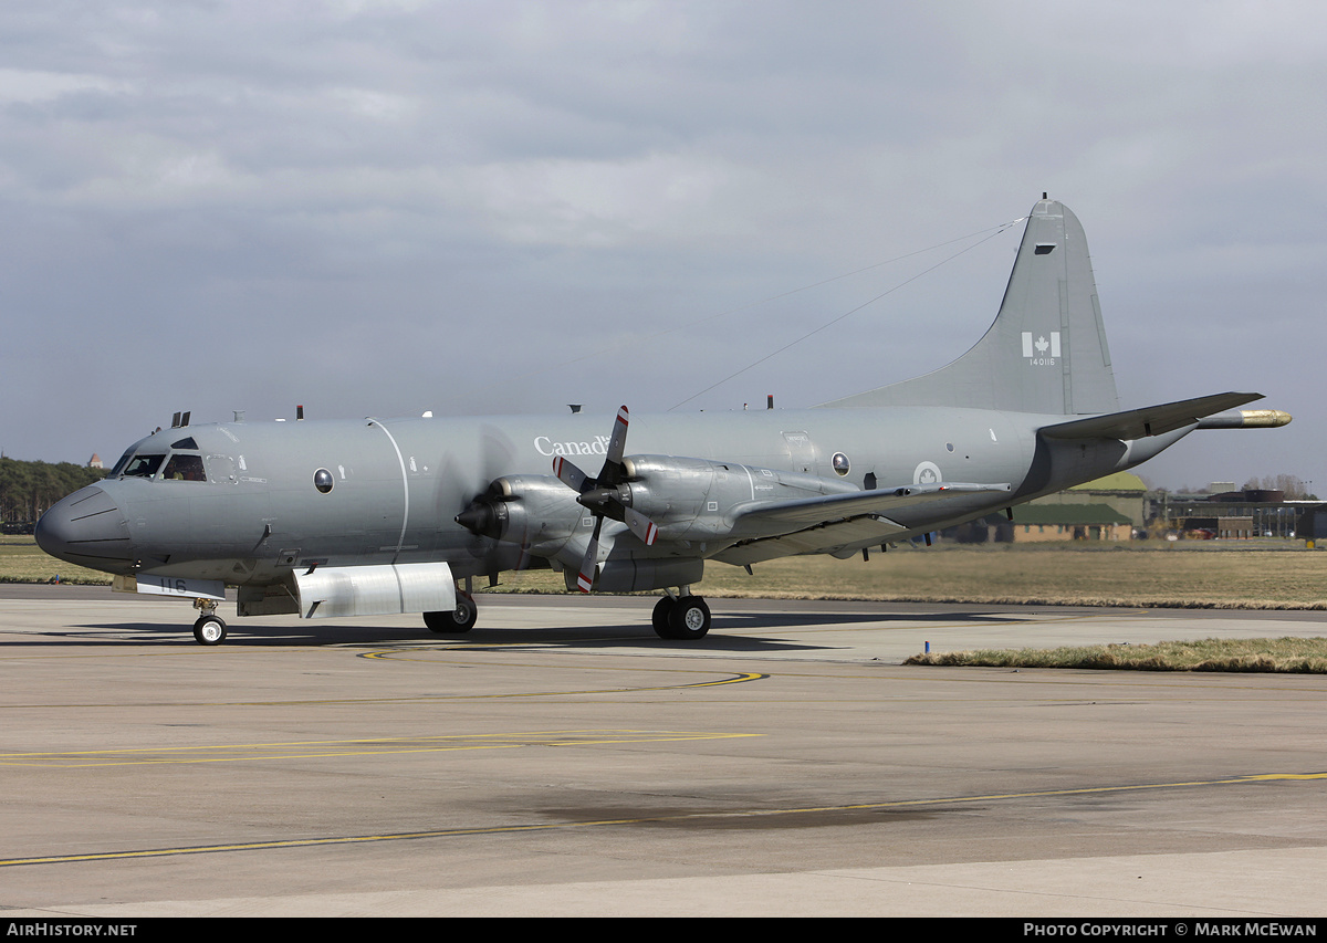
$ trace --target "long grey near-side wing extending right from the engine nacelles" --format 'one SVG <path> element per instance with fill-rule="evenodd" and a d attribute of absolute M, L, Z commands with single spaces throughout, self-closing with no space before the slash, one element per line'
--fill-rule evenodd
<path fill-rule="evenodd" d="M 742 566 L 790 554 L 832 553 L 844 546 L 873 544 L 909 529 L 890 520 L 888 512 L 1007 491 L 1009 484 L 912 484 L 754 503 L 734 515 L 734 533 L 759 536 L 740 540 L 715 554 L 714 560 Z"/>

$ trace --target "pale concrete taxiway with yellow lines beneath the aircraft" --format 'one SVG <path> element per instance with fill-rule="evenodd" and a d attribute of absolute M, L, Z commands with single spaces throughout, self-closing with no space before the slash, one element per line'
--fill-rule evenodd
<path fill-rule="evenodd" d="M 904 667 L 1324 613 L 0 588 L 8 915 L 1319 916 L 1327 678 Z"/>

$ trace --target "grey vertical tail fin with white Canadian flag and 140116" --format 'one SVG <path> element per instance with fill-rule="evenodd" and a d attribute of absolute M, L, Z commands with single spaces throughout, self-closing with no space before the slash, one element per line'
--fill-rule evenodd
<path fill-rule="evenodd" d="M 1032 207 L 999 314 L 966 354 L 924 377 L 824 406 L 1117 411 L 1101 305 L 1078 216 L 1056 200 Z"/>

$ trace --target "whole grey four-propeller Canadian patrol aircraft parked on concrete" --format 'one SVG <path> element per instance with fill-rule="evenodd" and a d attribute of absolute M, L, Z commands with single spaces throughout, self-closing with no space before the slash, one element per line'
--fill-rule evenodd
<path fill-rule="evenodd" d="M 567 589 L 664 590 L 654 631 L 710 629 L 709 561 L 867 556 L 1132 468 L 1196 428 L 1282 426 L 1253 393 L 1120 411 L 1083 227 L 1036 203 L 995 322 L 949 366 L 808 410 L 608 422 L 232 422 L 134 443 L 37 524 L 118 589 L 192 598 L 194 635 L 240 615 L 423 613 L 475 625 L 475 577 L 551 566 Z M 594 473 L 573 459 L 600 463 Z M 551 473 L 549 473 L 551 472 Z"/>

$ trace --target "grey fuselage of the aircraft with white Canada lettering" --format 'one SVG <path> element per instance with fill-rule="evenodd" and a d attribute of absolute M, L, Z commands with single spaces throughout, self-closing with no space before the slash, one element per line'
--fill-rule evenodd
<path fill-rule="evenodd" d="M 1047 416 L 1032 414 L 947 407 L 654 415 L 637 416 L 630 452 L 795 472 L 841 491 L 1010 483 L 1013 493 L 900 509 L 892 519 L 906 532 L 896 538 L 906 538 L 1131 467 L 1182 435 L 1165 436 L 1164 444 L 1149 442 L 1147 454 L 1139 455 L 1119 440 L 1091 448 L 1039 446 L 1036 431 L 1046 423 Z M 44 545 L 61 549 L 49 544 L 62 544 L 60 556 L 76 562 L 85 557 L 109 572 L 232 585 L 271 584 L 316 565 L 438 560 L 458 577 L 478 574 L 492 569 L 492 553 L 502 548 L 466 531 L 455 516 L 494 477 L 514 468 L 548 475 L 555 456 L 597 467 L 608 444 L 606 427 L 602 416 L 580 414 L 162 430 L 135 443 L 111 476 L 92 485 L 105 493 L 92 519 L 104 532 L 80 538 L 80 501 L 72 496 L 72 520 L 61 524 L 53 509 Z M 143 456 L 161 456 L 154 473 L 123 473 L 126 460 Z M 184 464 L 176 456 L 190 459 L 191 468 L 200 466 L 202 475 L 173 472 Z M 576 507 L 575 492 L 564 491 L 567 513 L 579 516 L 588 531 L 589 512 Z M 702 515 L 723 519 L 731 509 L 723 504 L 752 495 L 736 487 L 715 497 L 719 501 L 705 501 Z M 68 538 L 56 536 L 65 531 Z M 723 546 L 717 541 L 701 556 Z M 519 556 L 519 548 L 507 549 Z M 667 553 L 660 548 L 657 556 Z M 645 548 L 637 554 L 648 556 Z"/>

